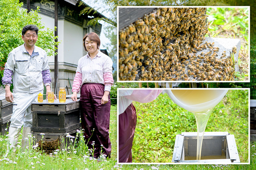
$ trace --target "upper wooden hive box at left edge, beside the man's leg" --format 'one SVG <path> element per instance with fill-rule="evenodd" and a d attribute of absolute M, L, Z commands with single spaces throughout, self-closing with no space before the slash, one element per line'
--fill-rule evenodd
<path fill-rule="evenodd" d="M 0 94 L 0 122 L 10 120 L 12 116 L 12 103 L 5 100 L 5 93 Z"/>

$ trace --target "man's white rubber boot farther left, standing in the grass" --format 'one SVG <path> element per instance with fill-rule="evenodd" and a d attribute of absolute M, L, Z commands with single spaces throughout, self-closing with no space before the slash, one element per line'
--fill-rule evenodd
<path fill-rule="evenodd" d="M 9 127 L 9 144 L 7 144 L 7 151 L 4 157 L 6 157 L 9 154 L 10 148 L 12 148 L 12 152 L 16 151 L 19 133 L 20 128 Z"/>

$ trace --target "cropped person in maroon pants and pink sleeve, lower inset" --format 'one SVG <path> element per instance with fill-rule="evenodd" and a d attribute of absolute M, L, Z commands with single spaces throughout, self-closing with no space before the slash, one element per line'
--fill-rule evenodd
<path fill-rule="evenodd" d="M 136 109 L 132 101 L 148 103 L 156 99 L 162 90 L 118 90 L 118 163 L 132 162 L 132 141 L 137 123 Z"/>

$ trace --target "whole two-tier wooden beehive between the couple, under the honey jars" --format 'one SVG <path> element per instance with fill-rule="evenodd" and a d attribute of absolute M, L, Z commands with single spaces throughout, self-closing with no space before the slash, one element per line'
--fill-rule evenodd
<path fill-rule="evenodd" d="M 65 103 L 60 103 L 55 100 L 53 103 L 48 103 L 44 100 L 43 103 L 32 103 L 33 126 L 32 134 L 36 141 L 47 141 L 49 147 L 60 141 L 60 148 L 64 149 L 66 142 L 73 143 L 67 139 L 67 135 L 76 136 L 76 130 L 80 130 L 80 110 L 79 100 L 67 100 Z M 62 139 L 65 142 L 62 142 Z"/>

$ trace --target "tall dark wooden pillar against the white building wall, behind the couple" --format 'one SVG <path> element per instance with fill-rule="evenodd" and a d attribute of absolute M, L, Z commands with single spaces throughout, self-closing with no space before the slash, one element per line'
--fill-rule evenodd
<path fill-rule="evenodd" d="M 55 0 L 54 6 L 54 26 L 56 28 L 54 31 L 54 36 L 58 36 L 58 0 Z M 55 42 L 57 41 L 58 39 L 55 39 Z M 55 50 L 55 53 L 57 54 L 54 56 L 54 94 L 57 94 L 59 73 L 58 49 Z"/>

